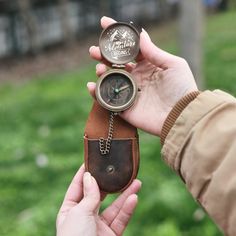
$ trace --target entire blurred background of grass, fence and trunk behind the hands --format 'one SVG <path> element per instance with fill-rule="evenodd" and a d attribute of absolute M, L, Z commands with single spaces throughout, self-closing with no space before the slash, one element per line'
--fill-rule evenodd
<path fill-rule="evenodd" d="M 135 22 L 185 57 L 202 89 L 236 95 L 234 0 L 0 0 L 0 235 L 55 235 L 83 163 L 86 83 L 97 79 L 88 48 L 98 44 L 103 15 Z M 140 131 L 143 187 L 124 235 L 222 235 L 160 149 Z"/>

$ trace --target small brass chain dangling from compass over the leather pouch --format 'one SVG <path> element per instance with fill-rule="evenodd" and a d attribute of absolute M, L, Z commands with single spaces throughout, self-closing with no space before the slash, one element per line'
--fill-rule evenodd
<path fill-rule="evenodd" d="M 102 155 L 106 155 L 110 152 L 111 141 L 113 138 L 113 131 L 114 131 L 114 116 L 115 115 L 116 113 L 110 112 L 109 130 L 108 130 L 107 140 L 105 140 L 104 138 L 99 139 L 99 148 Z"/>

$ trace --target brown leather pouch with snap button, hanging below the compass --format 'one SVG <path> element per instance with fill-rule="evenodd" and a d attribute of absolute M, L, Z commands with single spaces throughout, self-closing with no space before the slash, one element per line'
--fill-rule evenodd
<path fill-rule="evenodd" d="M 109 154 L 102 155 L 99 139 L 107 138 L 110 112 L 94 102 L 84 134 L 86 171 L 97 180 L 105 193 L 125 190 L 136 178 L 139 168 L 139 141 L 135 127 L 114 117 L 114 133 Z"/>

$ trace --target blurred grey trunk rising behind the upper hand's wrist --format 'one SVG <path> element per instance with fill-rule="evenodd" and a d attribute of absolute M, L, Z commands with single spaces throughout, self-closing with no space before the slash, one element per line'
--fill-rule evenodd
<path fill-rule="evenodd" d="M 202 73 L 203 59 L 203 21 L 202 0 L 181 0 L 180 12 L 180 49 L 193 71 L 197 85 L 204 88 Z"/>

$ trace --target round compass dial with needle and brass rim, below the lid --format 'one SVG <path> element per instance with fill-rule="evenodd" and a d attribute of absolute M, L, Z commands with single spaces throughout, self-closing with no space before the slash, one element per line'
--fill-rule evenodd
<path fill-rule="evenodd" d="M 137 86 L 125 71 L 109 71 L 97 82 L 97 100 L 110 111 L 120 112 L 128 109 L 133 104 L 136 95 Z"/>

